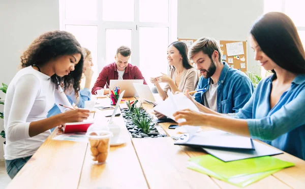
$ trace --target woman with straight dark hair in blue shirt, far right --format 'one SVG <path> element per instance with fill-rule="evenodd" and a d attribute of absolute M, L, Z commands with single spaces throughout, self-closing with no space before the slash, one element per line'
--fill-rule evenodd
<path fill-rule="evenodd" d="M 250 33 L 255 59 L 274 74 L 258 84 L 235 119 L 196 102 L 201 112 L 177 111 L 175 119 L 186 119 L 179 125 L 207 125 L 264 140 L 305 160 L 305 52 L 297 29 L 287 15 L 271 12 L 262 16 Z"/>

